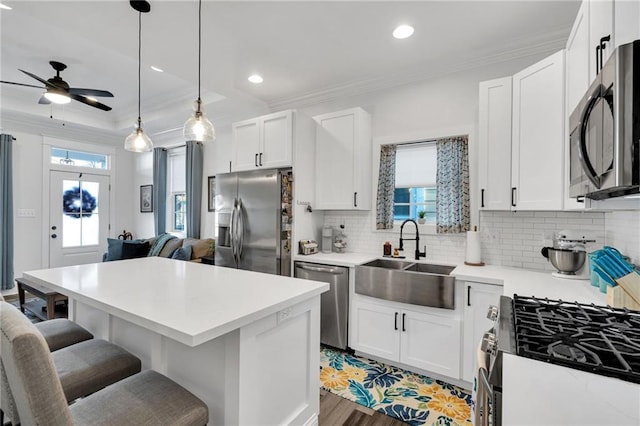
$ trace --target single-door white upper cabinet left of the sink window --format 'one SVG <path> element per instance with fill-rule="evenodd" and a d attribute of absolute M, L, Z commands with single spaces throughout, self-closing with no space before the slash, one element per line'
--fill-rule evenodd
<path fill-rule="evenodd" d="M 313 117 L 319 210 L 371 209 L 371 116 L 362 108 Z"/>

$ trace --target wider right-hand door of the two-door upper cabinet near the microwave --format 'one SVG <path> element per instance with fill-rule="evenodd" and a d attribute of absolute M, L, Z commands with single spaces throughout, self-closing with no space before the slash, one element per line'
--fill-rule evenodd
<path fill-rule="evenodd" d="M 512 125 L 512 209 L 561 210 L 564 50 L 513 76 Z"/>

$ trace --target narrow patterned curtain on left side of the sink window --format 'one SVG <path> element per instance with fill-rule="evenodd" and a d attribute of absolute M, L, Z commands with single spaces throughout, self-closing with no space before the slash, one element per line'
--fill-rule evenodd
<path fill-rule="evenodd" d="M 393 229 L 393 201 L 396 189 L 396 146 L 380 147 L 378 173 L 378 204 L 376 229 Z"/>

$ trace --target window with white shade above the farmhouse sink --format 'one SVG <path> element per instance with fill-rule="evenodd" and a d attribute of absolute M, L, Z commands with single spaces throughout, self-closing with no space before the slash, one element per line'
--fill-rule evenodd
<path fill-rule="evenodd" d="M 423 218 L 436 223 L 437 164 L 435 142 L 397 145 L 394 221 Z"/>

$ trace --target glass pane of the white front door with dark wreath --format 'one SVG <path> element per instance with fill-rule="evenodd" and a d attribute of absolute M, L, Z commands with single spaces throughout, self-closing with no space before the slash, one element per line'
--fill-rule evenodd
<path fill-rule="evenodd" d="M 100 184 L 81 180 L 62 182 L 62 247 L 99 243 Z"/>

